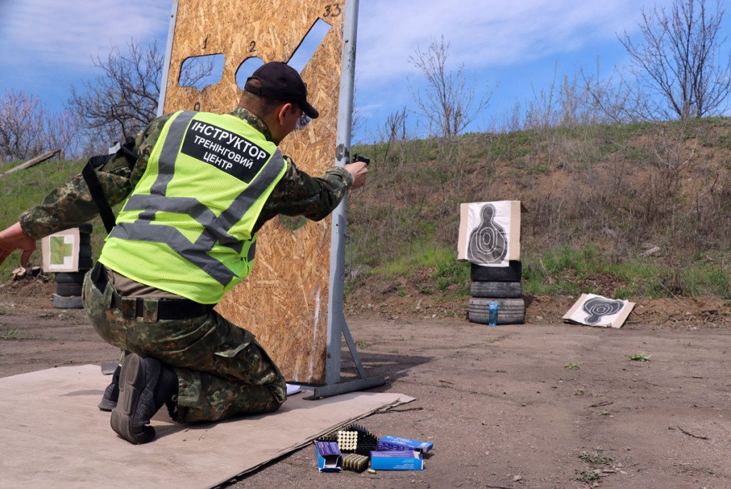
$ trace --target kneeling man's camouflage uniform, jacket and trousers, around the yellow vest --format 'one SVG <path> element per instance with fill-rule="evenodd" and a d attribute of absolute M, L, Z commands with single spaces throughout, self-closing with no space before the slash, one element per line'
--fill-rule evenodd
<path fill-rule="evenodd" d="M 272 139 L 265 124 L 248 110 L 238 107 L 231 114 L 247 121 L 267 140 Z M 138 159 L 132 170 L 121 156 L 97 170 L 110 205 L 124 201 L 132 192 L 169 117 L 156 118 L 137 134 Z M 277 214 L 322 219 L 338 205 L 351 184 L 352 177 L 344 168 L 333 167 L 325 175 L 312 178 L 287 159 L 287 173 L 265 203 L 254 232 Z M 77 175 L 51 192 L 42 204 L 23 213 L 20 225 L 30 238 L 38 239 L 89 221 L 97 213 L 83 177 Z M 112 295 L 117 292 L 114 279 L 115 274 L 110 271 L 105 289 L 99 290 L 91 273 L 87 274 L 83 302 L 88 318 L 108 343 L 143 357 L 155 357 L 175 368 L 177 403 L 168 406 L 175 420 L 216 421 L 233 414 L 270 412 L 287 398 L 284 376 L 252 333 L 213 310 L 192 319 L 157 320 L 156 305 L 164 298 L 145 298 L 143 317 L 125 316 L 121 309 L 112 306 Z M 135 296 L 140 296 L 139 289 Z M 141 289 L 143 296 L 148 292 L 147 297 L 161 297 L 154 293 L 161 292 L 157 289 Z"/>

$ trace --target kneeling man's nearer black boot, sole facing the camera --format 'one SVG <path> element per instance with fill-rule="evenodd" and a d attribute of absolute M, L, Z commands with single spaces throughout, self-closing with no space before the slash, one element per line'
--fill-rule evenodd
<path fill-rule="evenodd" d="M 119 401 L 112 410 L 112 429 L 129 443 L 152 441 L 151 417 L 178 394 L 178 376 L 159 360 L 127 355 L 119 374 Z"/>

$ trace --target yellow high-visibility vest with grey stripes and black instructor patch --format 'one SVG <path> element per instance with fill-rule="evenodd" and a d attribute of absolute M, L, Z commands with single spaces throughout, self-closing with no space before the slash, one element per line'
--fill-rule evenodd
<path fill-rule="evenodd" d="M 140 284 L 218 303 L 251 272 L 254 224 L 286 171 L 276 145 L 240 118 L 175 113 L 99 261 Z"/>

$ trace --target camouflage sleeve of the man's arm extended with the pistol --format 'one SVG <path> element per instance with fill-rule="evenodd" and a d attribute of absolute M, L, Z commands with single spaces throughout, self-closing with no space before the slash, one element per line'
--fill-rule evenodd
<path fill-rule="evenodd" d="M 342 167 L 328 168 L 325 174 L 311 177 L 298 170 L 289 156 L 284 158 L 287 159 L 287 173 L 265 202 L 254 232 L 277 214 L 319 221 L 338 206 L 353 183 L 352 175 Z"/>

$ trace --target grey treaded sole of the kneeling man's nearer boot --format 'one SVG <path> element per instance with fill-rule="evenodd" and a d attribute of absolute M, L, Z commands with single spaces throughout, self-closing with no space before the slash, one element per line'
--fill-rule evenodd
<path fill-rule="evenodd" d="M 134 353 L 127 355 L 119 373 L 119 399 L 112 410 L 110 424 L 115 433 L 132 444 L 147 443 L 155 437 L 151 426 L 142 426 L 141 432 L 135 432 L 132 426 L 140 394 L 147 384 L 146 377 L 144 360 Z"/>

